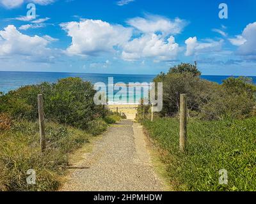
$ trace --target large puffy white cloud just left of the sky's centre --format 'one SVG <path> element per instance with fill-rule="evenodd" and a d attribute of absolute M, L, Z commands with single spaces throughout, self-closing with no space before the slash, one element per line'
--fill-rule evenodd
<path fill-rule="evenodd" d="M 113 52 L 132 36 L 132 29 L 122 25 L 111 25 L 102 20 L 83 20 L 61 24 L 72 38 L 67 48 L 70 55 L 98 55 L 100 52 Z"/>

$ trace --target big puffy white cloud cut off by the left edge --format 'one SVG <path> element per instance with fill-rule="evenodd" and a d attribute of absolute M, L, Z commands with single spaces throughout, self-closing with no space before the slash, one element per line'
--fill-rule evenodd
<path fill-rule="evenodd" d="M 48 38 L 48 39 L 47 39 Z M 40 36 L 28 36 L 20 33 L 14 25 L 8 25 L 0 31 L 1 56 L 28 56 L 29 59 L 52 59 L 51 49 L 47 48 L 50 40 Z"/>

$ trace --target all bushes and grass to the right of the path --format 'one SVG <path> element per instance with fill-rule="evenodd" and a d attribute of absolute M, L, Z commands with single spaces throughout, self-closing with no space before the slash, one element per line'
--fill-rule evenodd
<path fill-rule="evenodd" d="M 154 82 L 163 82 L 163 110 L 138 107 L 137 120 L 159 145 L 173 187 L 182 191 L 256 190 L 256 86 L 246 77 L 216 84 L 200 78 L 192 64 L 180 64 Z M 188 95 L 188 145 L 179 151 L 179 100 Z M 220 185 L 219 170 L 228 171 Z"/>

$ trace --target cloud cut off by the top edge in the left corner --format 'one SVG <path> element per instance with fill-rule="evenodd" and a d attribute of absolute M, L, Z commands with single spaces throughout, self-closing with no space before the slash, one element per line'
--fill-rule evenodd
<path fill-rule="evenodd" d="M 5 8 L 12 9 L 19 7 L 23 3 L 35 3 L 40 5 L 48 5 L 56 0 L 0 0 L 0 4 Z"/>

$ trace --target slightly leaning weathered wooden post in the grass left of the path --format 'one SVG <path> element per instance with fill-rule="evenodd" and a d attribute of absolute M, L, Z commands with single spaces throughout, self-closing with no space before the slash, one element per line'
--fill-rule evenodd
<path fill-rule="evenodd" d="M 38 116 L 39 116 L 39 128 L 40 128 L 40 145 L 41 151 L 44 152 L 46 148 L 45 140 L 45 126 L 44 126 L 44 100 L 43 95 L 39 94 L 38 99 Z"/>

